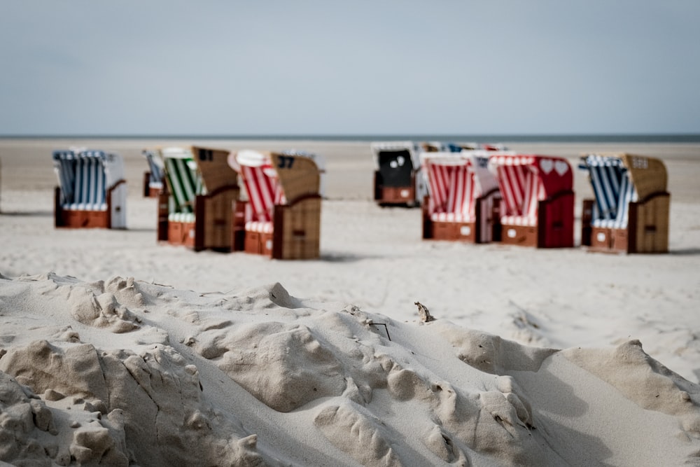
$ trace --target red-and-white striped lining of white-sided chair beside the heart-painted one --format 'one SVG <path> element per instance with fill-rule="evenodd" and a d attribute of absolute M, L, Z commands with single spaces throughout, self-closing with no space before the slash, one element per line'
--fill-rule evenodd
<path fill-rule="evenodd" d="M 476 186 L 471 162 L 454 156 L 449 159 L 428 158 L 424 162 L 430 185 L 430 218 L 433 221 L 473 222 Z"/>

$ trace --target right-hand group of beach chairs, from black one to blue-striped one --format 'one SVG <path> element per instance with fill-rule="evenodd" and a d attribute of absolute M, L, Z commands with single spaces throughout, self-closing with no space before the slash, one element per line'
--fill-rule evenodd
<path fill-rule="evenodd" d="M 573 170 L 566 159 L 503 146 L 372 144 L 374 200 L 422 206 L 423 238 L 574 244 Z M 593 200 L 582 207 L 581 243 L 592 251 L 668 251 L 670 195 L 661 160 L 626 153 L 582 156 Z"/>

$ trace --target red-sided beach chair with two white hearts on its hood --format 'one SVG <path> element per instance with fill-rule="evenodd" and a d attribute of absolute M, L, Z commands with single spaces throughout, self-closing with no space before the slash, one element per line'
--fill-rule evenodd
<path fill-rule="evenodd" d="M 566 159 L 494 153 L 502 200 L 500 242 L 538 248 L 573 246 L 573 172 Z"/>

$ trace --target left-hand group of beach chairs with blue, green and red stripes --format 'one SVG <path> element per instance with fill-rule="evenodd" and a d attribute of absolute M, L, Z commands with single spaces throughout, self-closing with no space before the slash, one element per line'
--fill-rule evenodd
<path fill-rule="evenodd" d="M 195 251 L 318 258 L 323 160 L 299 151 L 145 150 L 144 196 L 158 197 L 158 240 Z M 55 225 L 125 228 L 123 161 L 55 151 Z"/>

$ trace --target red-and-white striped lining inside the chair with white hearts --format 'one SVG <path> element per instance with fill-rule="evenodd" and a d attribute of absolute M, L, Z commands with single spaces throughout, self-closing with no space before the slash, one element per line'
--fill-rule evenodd
<path fill-rule="evenodd" d="M 518 155 L 496 155 L 489 161 L 496 167 L 498 186 L 505 210 L 501 223 L 506 225 L 537 225 L 540 200 L 547 197 L 535 158 Z"/>

